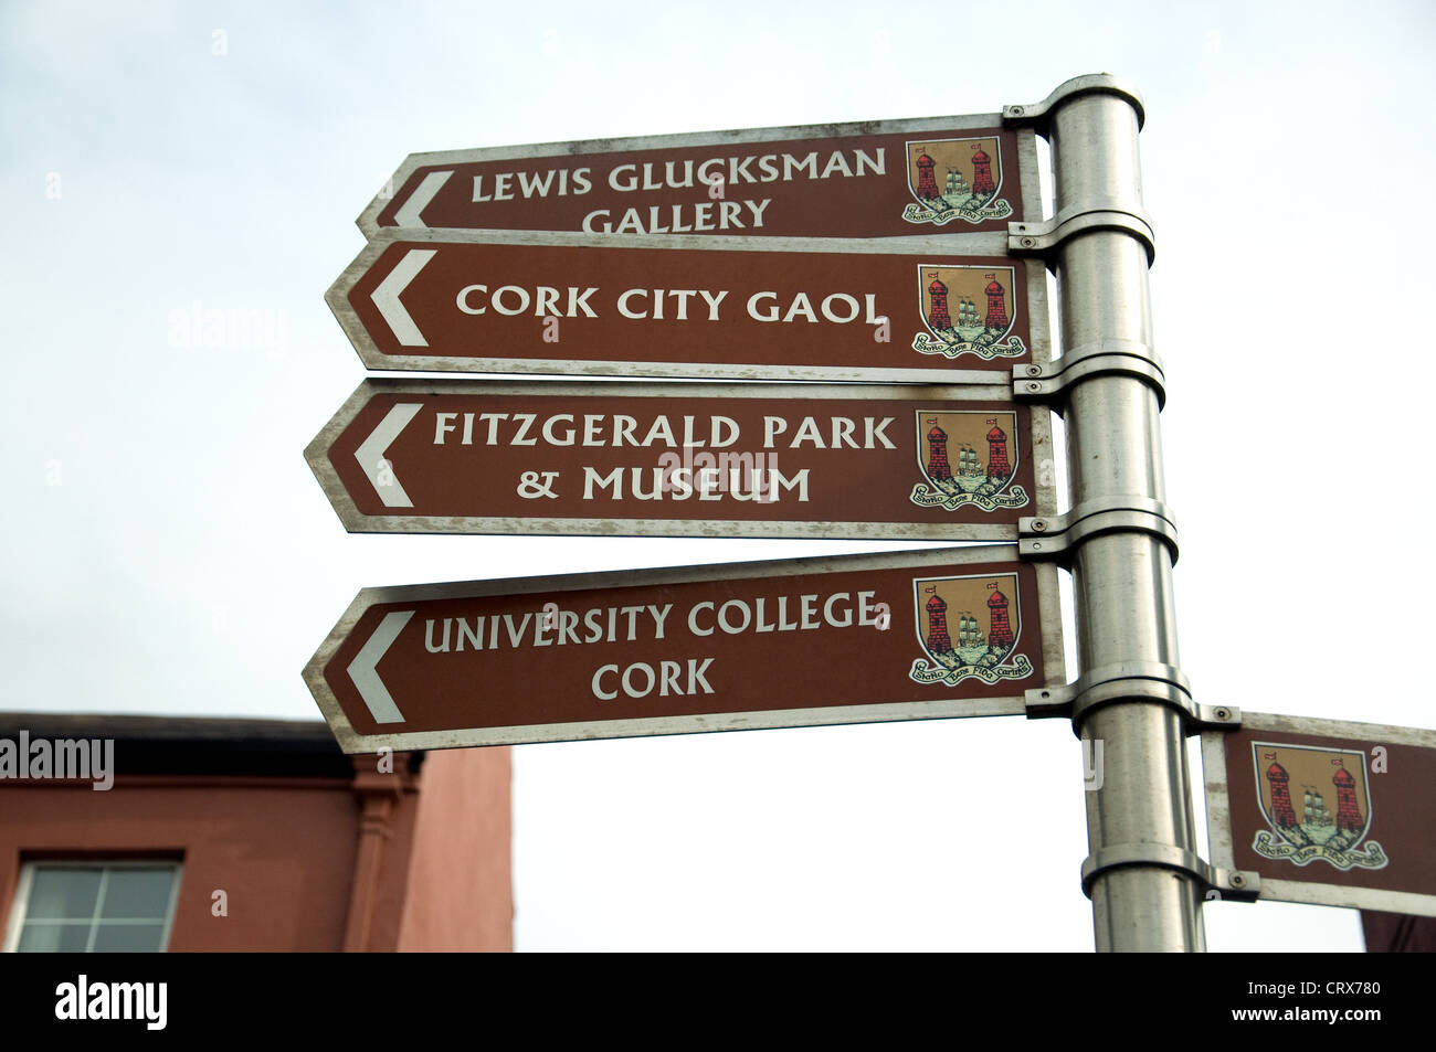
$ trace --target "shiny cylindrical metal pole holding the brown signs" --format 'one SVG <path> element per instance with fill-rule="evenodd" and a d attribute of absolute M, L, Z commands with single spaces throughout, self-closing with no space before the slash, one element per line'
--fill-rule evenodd
<path fill-rule="evenodd" d="M 1071 709 L 1086 755 L 1100 759 L 1083 867 L 1097 950 L 1203 950 L 1186 728 L 1180 708 L 1159 700 L 1183 680 L 1147 300 L 1142 100 L 1113 78 L 1084 76 L 1007 116 L 1045 125 L 1053 156 L 1053 220 L 1014 224 L 1012 247 L 1047 251 L 1058 280 L 1063 356 L 1030 375 L 1068 377 L 1057 386 L 1071 511 L 1038 525 L 1066 534 L 1081 682 L 1104 687 L 1078 690 Z"/>

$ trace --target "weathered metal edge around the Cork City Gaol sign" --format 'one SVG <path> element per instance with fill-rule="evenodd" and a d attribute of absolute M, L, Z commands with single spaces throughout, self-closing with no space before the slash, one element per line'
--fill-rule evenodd
<path fill-rule="evenodd" d="M 396 241 L 438 244 L 505 244 L 553 245 L 574 248 L 656 248 L 698 250 L 717 253 L 829 253 L 870 255 L 946 255 L 998 257 L 1007 255 L 1005 234 L 949 234 L 902 238 L 811 238 L 811 237 L 732 237 L 709 238 L 692 234 L 574 234 L 550 231 L 490 231 L 490 230 L 406 230 L 391 227 L 376 234 L 345 267 L 325 293 L 325 301 L 349 337 L 366 369 L 389 372 L 458 372 L 458 373 L 527 373 L 569 376 L 655 376 L 675 379 L 735 379 L 735 380 L 810 380 L 820 383 L 985 383 L 1010 385 L 1011 372 L 1001 369 L 918 369 L 918 367 L 860 367 L 834 366 L 770 366 L 705 362 L 567 362 L 554 359 L 495 359 L 435 354 L 385 354 L 359 320 L 349 293 Z M 1025 273 L 1025 307 L 1032 337 L 1031 365 L 1051 360 L 1048 329 L 1047 270 L 1041 261 L 1012 258 L 1012 266 Z"/>

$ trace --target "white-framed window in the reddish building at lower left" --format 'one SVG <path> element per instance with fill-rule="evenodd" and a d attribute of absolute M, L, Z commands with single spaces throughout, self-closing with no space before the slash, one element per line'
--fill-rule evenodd
<path fill-rule="evenodd" d="M 4 949 L 154 953 L 169 944 L 178 863 L 26 863 Z"/>

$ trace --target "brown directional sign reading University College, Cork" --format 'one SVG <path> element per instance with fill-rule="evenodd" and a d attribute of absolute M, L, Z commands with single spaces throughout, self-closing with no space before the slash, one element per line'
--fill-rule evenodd
<path fill-rule="evenodd" d="M 304 679 L 346 752 L 1017 715 L 1055 596 L 1015 545 L 366 588 Z"/>

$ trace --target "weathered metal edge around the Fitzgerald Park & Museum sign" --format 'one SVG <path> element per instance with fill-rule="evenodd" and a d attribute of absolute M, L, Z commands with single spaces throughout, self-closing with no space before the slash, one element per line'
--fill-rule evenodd
<path fill-rule="evenodd" d="M 1015 541 L 1017 525 L 1001 522 L 806 522 L 750 520 L 642 520 L 642 518 L 510 518 L 368 515 L 359 511 L 333 464 L 329 449 L 359 412 L 379 395 L 543 395 L 567 398 L 742 398 L 742 399 L 892 399 L 893 402 L 995 402 L 994 385 L 817 385 L 817 383 L 643 383 L 592 380 L 404 380 L 370 377 L 304 448 L 304 459 L 352 534 L 504 534 L 528 537 L 724 537 L 724 538 L 830 538 L 895 541 Z M 1035 468 L 1035 494 L 1028 514 L 1053 515 L 1057 509 L 1053 428 L 1048 413 L 1034 408 L 1028 455 Z"/>

